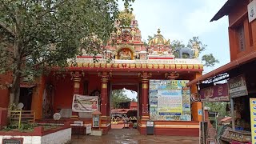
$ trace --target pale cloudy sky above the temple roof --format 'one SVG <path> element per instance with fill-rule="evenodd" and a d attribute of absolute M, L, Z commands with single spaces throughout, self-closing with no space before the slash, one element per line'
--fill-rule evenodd
<path fill-rule="evenodd" d="M 187 44 L 198 36 L 206 50 L 203 54 L 214 54 L 219 63 L 204 67 L 203 74 L 230 62 L 228 18 L 210 22 L 226 0 L 135 0 L 133 13 L 142 32 L 142 40 L 157 34 L 158 28 L 166 39 L 180 40 Z M 122 2 L 119 9 L 123 10 Z M 134 97 L 134 96 L 133 96 Z"/>

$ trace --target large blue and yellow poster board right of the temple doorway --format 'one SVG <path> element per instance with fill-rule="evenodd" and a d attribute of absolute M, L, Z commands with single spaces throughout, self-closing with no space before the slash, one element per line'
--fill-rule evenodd
<path fill-rule="evenodd" d="M 190 121 L 187 80 L 150 80 L 150 120 Z"/>

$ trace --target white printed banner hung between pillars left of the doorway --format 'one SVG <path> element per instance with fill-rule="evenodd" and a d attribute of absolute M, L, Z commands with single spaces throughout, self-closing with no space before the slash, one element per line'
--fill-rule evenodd
<path fill-rule="evenodd" d="M 98 110 L 98 96 L 85 96 L 74 94 L 72 111 L 93 112 L 94 110 Z"/>

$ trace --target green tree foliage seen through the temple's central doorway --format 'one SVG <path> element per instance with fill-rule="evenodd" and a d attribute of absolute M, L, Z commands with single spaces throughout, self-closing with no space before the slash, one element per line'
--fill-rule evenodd
<path fill-rule="evenodd" d="M 111 94 L 111 105 L 114 109 L 120 108 L 120 102 L 130 102 L 130 98 L 125 94 L 125 89 L 113 90 Z"/>

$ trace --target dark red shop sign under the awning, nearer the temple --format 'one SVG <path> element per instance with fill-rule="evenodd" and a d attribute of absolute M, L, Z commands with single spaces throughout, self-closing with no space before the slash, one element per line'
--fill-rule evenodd
<path fill-rule="evenodd" d="M 227 84 L 210 86 L 200 90 L 201 102 L 230 101 Z"/>

